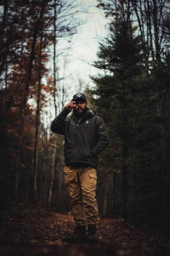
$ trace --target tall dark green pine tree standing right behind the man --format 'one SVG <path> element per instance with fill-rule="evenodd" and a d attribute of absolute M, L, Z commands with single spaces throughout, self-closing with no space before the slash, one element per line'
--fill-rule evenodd
<path fill-rule="evenodd" d="M 125 221 L 128 211 L 134 211 L 138 204 L 137 191 L 143 161 L 149 161 L 152 152 L 150 142 L 146 141 L 152 141 L 154 135 L 151 136 L 149 130 L 152 126 L 148 120 L 152 101 L 148 101 L 151 92 L 147 85 L 150 81 L 144 76 L 142 49 L 143 44 L 140 37 L 135 36 L 135 28 L 131 33 L 129 24 L 119 21 L 111 27 L 106 44 L 100 44 L 99 61 L 94 64 L 104 70 L 105 75 L 92 77 L 96 86 L 91 93 L 98 95 L 94 100 L 97 112 L 104 118 L 109 130 L 107 163 L 113 175 L 117 172 L 117 187 L 121 183 L 116 200 L 119 214 L 123 211 L 121 217 Z"/>

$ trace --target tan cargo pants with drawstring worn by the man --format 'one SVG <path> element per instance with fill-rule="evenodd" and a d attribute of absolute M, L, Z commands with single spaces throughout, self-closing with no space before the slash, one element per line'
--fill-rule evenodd
<path fill-rule="evenodd" d="M 75 225 L 97 224 L 96 169 L 92 166 L 70 165 L 65 166 L 63 171 L 65 186 L 72 199 Z"/>

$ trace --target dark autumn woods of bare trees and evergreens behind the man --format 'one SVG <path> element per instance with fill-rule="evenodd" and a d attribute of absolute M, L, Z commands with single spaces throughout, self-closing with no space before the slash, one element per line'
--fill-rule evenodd
<path fill-rule="evenodd" d="M 50 125 L 76 90 L 110 138 L 97 168 L 99 217 L 170 234 L 170 3 L 92 4 L 108 37 L 98 42 L 93 85 L 74 88 L 59 74 L 57 47 L 77 33 L 86 4 L 0 1 L 0 215 L 21 208 L 72 215 L 64 136 Z"/>

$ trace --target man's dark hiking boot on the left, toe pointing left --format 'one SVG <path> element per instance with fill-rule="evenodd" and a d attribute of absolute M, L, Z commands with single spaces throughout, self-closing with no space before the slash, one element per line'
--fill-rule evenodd
<path fill-rule="evenodd" d="M 86 241 L 86 227 L 85 226 L 76 226 L 72 236 L 67 236 L 64 238 L 64 242 L 77 243 L 80 241 Z"/>

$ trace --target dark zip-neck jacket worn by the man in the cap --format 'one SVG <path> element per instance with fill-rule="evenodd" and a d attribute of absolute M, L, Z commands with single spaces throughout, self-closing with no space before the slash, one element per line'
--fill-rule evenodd
<path fill-rule="evenodd" d="M 98 155 L 108 146 L 109 137 L 102 118 L 89 111 L 78 123 L 65 107 L 52 121 L 51 131 L 64 135 L 65 165 L 80 163 L 97 168 Z"/>

